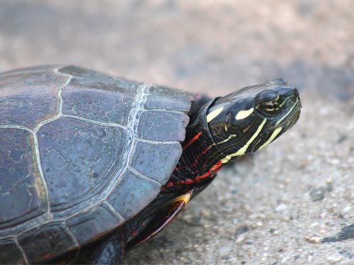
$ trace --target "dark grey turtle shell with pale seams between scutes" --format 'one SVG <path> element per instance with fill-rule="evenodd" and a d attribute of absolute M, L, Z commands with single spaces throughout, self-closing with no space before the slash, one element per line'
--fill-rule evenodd
<path fill-rule="evenodd" d="M 0 263 L 52 259 L 147 206 L 193 95 L 75 66 L 0 74 Z"/>

